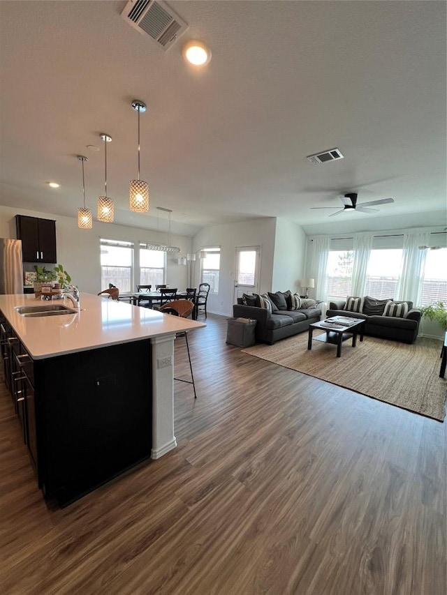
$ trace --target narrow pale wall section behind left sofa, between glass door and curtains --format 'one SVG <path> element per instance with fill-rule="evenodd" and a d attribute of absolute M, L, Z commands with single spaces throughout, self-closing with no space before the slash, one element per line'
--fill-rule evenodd
<path fill-rule="evenodd" d="M 272 290 L 299 292 L 299 280 L 304 277 L 306 235 L 301 227 L 277 218 L 274 238 Z"/>

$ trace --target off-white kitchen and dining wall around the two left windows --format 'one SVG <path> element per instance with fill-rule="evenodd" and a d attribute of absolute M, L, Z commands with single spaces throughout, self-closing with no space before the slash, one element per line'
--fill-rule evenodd
<path fill-rule="evenodd" d="M 105 287 L 101 287 L 101 262 L 99 241 L 115 239 L 133 241 L 135 245 L 142 242 L 166 241 L 163 234 L 156 231 L 126 227 L 114 223 L 94 222 L 92 229 L 79 229 L 74 217 L 63 217 L 52 213 L 40 213 L 26 209 L 14 209 L 10 206 L 0 206 L 0 237 L 15 238 L 15 215 L 29 215 L 43 219 L 56 220 L 57 262 L 63 264 L 71 275 L 73 283 L 82 292 L 96 294 Z M 166 234 L 164 234 L 166 235 Z M 173 246 L 179 246 L 182 253 L 191 252 L 192 240 L 185 236 L 171 236 Z M 184 289 L 188 283 L 186 266 L 177 264 L 177 255 L 168 253 L 166 267 L 166 282 L 171 287 Z M 135 250 L 135 270 L 139 268 L 138 250 Z M 138 283 L 135 280 L 135 283 Z"/>

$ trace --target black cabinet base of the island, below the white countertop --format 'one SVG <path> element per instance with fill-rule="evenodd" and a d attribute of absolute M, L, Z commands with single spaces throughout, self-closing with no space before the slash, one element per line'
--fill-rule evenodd
<path fill-rule="evenodd" d="M 148 339 L 32 359 L 0 312 L 4 379 L 46 498 L 61 506 L 151 456 Z"/>

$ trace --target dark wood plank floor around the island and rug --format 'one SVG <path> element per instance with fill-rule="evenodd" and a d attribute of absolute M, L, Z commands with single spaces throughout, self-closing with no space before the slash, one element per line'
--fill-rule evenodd
<path fill-rule="evenodd" d="M 447 424 L 225 338 L 212 315 L 190 334 L 177 449 L 65 509 L 1 384 L 2 594 L 446 594 Z"/>

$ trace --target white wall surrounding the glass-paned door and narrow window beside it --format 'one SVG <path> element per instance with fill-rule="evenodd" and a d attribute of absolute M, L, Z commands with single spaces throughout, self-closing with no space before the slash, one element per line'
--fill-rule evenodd
<path fill-rule="evenodd" d="M 219 294 L 208 296 L 207 310 L 226 316 L 233 315 L 236 248 L 241 246 L 261 246 L 261 293 L 272 291 L 272 270 L 274 261 L 274 236 L 276 220 L 274 218 L 253 219 L 240 223 L 213 225 L 205 227 L 193 239 L 193 250 L 200 248 L 221 248 L 221 270 L 219 276 Z M 193 263 L 194 287 L 200 283 L 199 259 Z"/>

